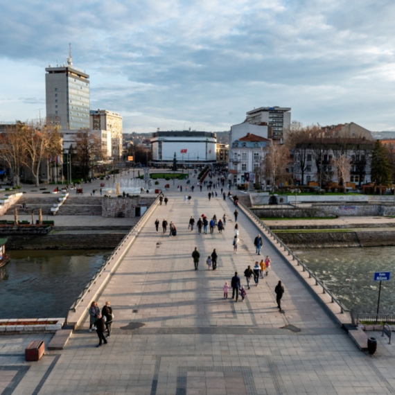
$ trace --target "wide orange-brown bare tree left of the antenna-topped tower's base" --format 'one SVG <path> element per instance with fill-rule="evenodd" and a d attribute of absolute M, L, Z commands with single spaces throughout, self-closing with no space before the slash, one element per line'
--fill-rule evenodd
<path fill-rule="evenodd" d="M 62 139 L 58 127 L 39 121 L 28 125 L 23 135 L 26 150 L 24 164 L 30 168 L 35 185 L 40 185 L 40 167 L 43 161 L 48 161 L 49 155 L 60 155 Z"/>

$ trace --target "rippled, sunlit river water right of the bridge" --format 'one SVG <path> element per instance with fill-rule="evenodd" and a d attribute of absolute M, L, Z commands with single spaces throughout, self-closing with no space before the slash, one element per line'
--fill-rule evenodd
<path fill-rule="evenodd" d="M 395 247 L 295 249 L 303 261 L 333 294 L 354 313 L 376 314 L 379 283 L 374 272 L 395 276 Z M 381 286 L 381 314 L 395 312 L 395 279 Z"/>

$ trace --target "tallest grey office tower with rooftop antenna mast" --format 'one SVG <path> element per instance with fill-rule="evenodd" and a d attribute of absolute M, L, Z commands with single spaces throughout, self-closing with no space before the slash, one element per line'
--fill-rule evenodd
<path fill-rule="evenodd" d="M 62 130 L 89 128 L 89 76 L 67 63 L 45 69 L 46 117 Z"/>

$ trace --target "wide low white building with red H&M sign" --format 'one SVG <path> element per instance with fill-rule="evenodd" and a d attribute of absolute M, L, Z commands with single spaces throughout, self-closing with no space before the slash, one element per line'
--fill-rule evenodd
<path fill-rule="evenodd" d="M 188 166 L 215 164 L 217 160 L 217 136 L 212 132 L 158 131 L 152 134 L 151 144 L 153 166 L 172 165 L 174 154 L 177 164 Z"/>

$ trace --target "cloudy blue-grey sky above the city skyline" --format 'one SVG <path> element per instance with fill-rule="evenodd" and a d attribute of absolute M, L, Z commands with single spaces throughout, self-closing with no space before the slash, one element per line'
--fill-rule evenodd
<path fill-rule="evenodd" d="M 73 64 L 124 132 L 229 130 L 254 107 L 395 130 L 393 0 L 3 1 L 0 121 L 45 116 L 45 67 Z"/>

